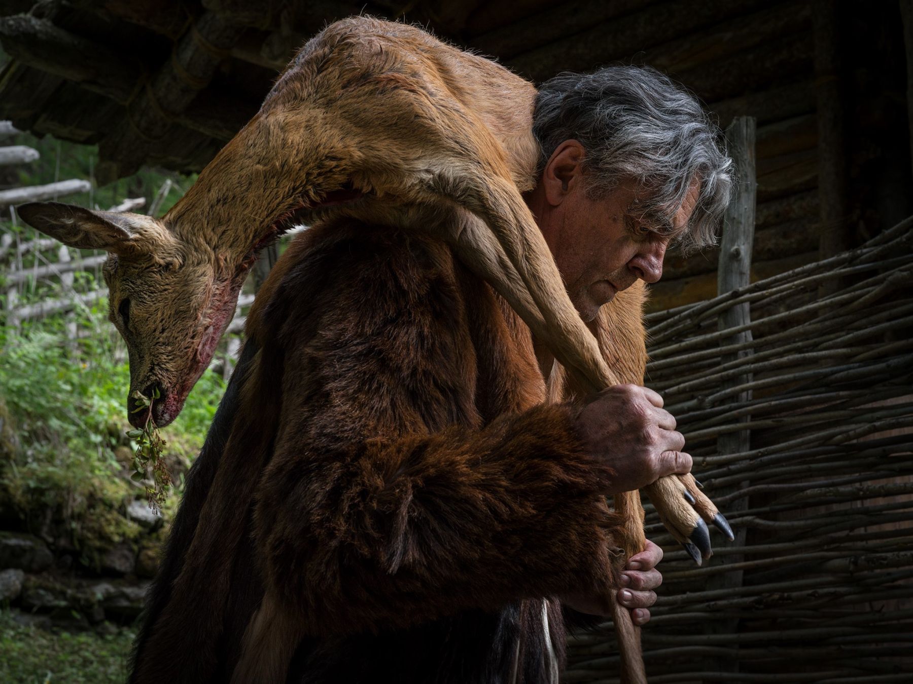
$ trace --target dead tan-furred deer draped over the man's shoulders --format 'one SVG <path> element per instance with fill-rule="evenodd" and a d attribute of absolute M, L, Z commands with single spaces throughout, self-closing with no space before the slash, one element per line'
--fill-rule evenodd
<path fill-rule="evenodd" d="M 299 51 L 257 116 L 161 221 L 53 203 L 25 205 L 20 215 L 67 244 L 112 254 L 104 270 L 110 317 L 128 345 L 131 393 L 157 387 L 162 394 L 152 405 L 159 425 L 177 415 L 212 358 L 257 250 L 293 223 L 335 224 L 342 217 L 403 234 L 424 232 L 448 245 L 551 349 L 577 393 L 592 392 L 619 379 L 599 344 L 604 350 L 616 333 L 603 331 L 597 341 L 582 324 L 522 201 L 520 193 L 535 182 L 534 94 L 530 83 L 507 69 L 413 26 L 354 17 L 328 26 Z M 279 420 L 284 407 L 274 391 L 275 378 L 287 377 L 274 367 L 276 358 L 284 358 L 275 347 L 282 343 L 257 336 L 256 328 L 251 337 L 259 351 L 237 401 L 256 411 L 257 420 L 236 426 L 226 442 L 226 456 L 259 454 L 244 463 L 244 472 L 254 476 L 234 484 L 242 502 L 251 500 L 256 475 L 273 452 L 264 440 L 280 440 L 289 424 L 285 414 Z M 535 461 L 534 453 L 527 455 Z M 598 472 L 593 463 L 588 467 Z M 212 486 L 220 489 L 221 479 L 235 477 L 231 472 L 219 467 Z M 693 509 L 679 505 L 686 489 L 706 502 L 690 476 L 664 478 L 651 493 L 679 538 L 701 522 Z M 627 492 L 615 499 L 622 522 L 616 541 L 633 554 L 644 544 L 639 497 Z M 223 523 L 236 530 L 244 511 L 208 498 L 193 505 L 203 506 L 201 525 L 221 521 L 194 533 L 193 544 L 202 546 L 197 551 L 231 562 L 217 535 L 227 529 Z M 210 506 L 217 510 L 207 513 Z M 197 542 L 201 534 L 213 536 Z M 193 606 L 192 587 L 207 583 L 215 596 L 227 596 L 231 582 L 221 570 L 220 580 L 206 574 L 195 575 L 196 584 L 175 580 L 175 596 Z M 174 599 L 168 604 L 180 605 Z M 179 609 L 166 607 L 163 616 L 169 610 Z M 622 648 L 630 655 L 637 650 L 636 630 L 626 611 L 616 617 L 628 627 Z M 202 644 L 207 631 L 201 629 L 184 638 Z M 159 637 L 153 630 L 150 638 Z M 202 645 L 200 653 L 205 660 Z M 629 677 L 643 680 L 642 674 Z"/>

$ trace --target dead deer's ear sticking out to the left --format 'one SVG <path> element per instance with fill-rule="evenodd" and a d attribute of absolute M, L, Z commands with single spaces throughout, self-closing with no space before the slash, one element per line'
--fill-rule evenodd
<path fill-rule="evenodd" d="M 93 212 L 61 202 L 29 202 L 16 207 L 19 218 L 46 235 L 70 247 L 102 249 L 113 254 L 142 252 L 134 239 L 129 216 Z"/>

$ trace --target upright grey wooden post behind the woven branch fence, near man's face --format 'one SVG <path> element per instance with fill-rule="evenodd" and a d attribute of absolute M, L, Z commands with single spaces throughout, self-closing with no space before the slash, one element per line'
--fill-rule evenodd
<path fill-rule="evenodd" d="M 757 182 L 755 180 L 755 119 L 753 117 L 737 117 L 733 119 L 729 128 L 726 130 L 726 139 L 729 142 L 729 156 L 735 162 L 736 171 L 739 181 L 736 185 L 736 192 L 729 203 L 724 220 L 723 234 L 719 245 L 719 265 L 717 269 L 717 292 L 718 295 L 724 295 L 732 290 L 739 289 L 749 285 L 751 280 L 751 250 L 754 245 L 754 212 L 756 204 Z M 719 315 L 719 330 L 728 330 L 734 326 L 742 326 L 749 323 L 751 319 L 750 305 L 748 303 L 736 306 L 730 306 L 726 311 Z M 744 332 L 720 340 L 720 346 L 750 342 L 751 331 Z M 737 354 L 724 355 L 720 358 L 720 363 L 727 363 L 750 355 L 750 350 L 743 350 Z M 750 375 L 741 375 L 736 378 L 729 378 L 722 382 L 721 389 L 735 387 L 750 381 Z M 750 392 L 742 392 L 740 395 L 733 397 L 730 401 L 746 401 L 751 398 Z M 750 420 L 748 416 L 742 420 Z M 717 451 L 724 453 L 740 453 L 749 451 L 751 446 L 750 430 L 740 430 L 729 434 L 720 435 L 717 439 Z M 747 482 L 742 482 L 736 489 L 742 489 L 747 486 Z M 729 493 L 718 491 L 720 494 Z M 729 518 L 733 514 L 738 515 L 740 511 L 748 508 L 748 499 L 737 499 L 726 506 L 723 512 Z M 735 531 L 736 538 L 733 542 L 724 539 L 714 541 L 714 544 L 721 546 L 744 546 L 745 529 L 737 528 Z M 723 555 L 714 561 L 714 565 L 728 565 L 738 563 L 744 558 L 741 555 Z M 740 570 L 730 570 L 721 575 L 711 575 L 708 581 L 708 590 L 711 589 L 729 589 L 742 585 L 742 572 Z M 733 634 L 739 628 L 738 620 L 716 619 L 708 623 L 710 633 L 713 634 Z M 730 660 L 729 662 L 708 663 L 708 667 L 713 665 L 721 671 L 737 672 L 739 671 L 739 661 Z"/>

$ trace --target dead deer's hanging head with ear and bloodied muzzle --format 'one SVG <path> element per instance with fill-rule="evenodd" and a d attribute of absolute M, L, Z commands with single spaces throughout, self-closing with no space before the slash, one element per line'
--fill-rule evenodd
<path fill-rule="evenodd" d="M 146 414 L 133 412 L 133 393 L 159 398 L 152 419 L 170 423 L 203 374 L 234 313 L 248 263 L 236 264 L 203 240 L 185 240 L 168 216 L 93 212 L 58 202 L 18 207 L 37 230 L 79 249 L 110 254 L 103 273 L 109 287 L 109 318 L 130 355 L 127 408 L 134 426 Z"/>

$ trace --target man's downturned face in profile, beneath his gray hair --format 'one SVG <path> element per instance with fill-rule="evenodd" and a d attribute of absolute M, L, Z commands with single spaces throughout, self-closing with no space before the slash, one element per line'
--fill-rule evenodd
<path fill-rule="evenodd" d="M 657 234 L 662 226 L 645 217 L 638 202 L 645 198 L 634 181 L 622 182 L 603 199 L 593 200 L 587 196 L 580 168 L 573 171 L 561 163 L 558 166 L 551 179 L 546 169 L 540 188 L 530 198 L 530 208 L 573 305 L 589 322 L 600 306 L 638 278 L 646 283 L 659 280 L 670 238 Z M 536 202 L 537 193 L 540 202 Z M 670 226 L 675 233 L 687 227 L 697 200 L 695 181 Z"/>

